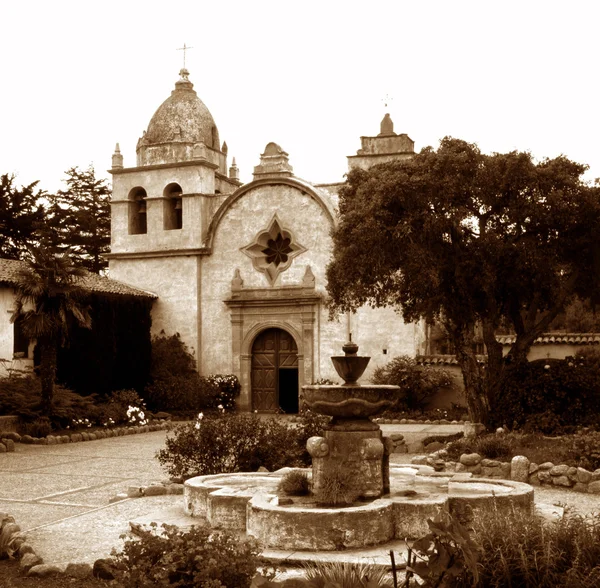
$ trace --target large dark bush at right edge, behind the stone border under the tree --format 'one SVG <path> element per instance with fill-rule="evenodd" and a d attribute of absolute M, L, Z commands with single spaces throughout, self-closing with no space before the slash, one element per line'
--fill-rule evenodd
<path fill-rule="evenodd" d="M 544 434 L 599 424 L 599 366 L 597 352 L 586 351 L 512 367 L 490 412 L 493 424 Z"/>

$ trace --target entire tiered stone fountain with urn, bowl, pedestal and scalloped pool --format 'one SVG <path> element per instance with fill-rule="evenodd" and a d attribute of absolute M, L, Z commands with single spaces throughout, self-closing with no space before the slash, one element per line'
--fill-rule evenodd
<path fill-rule="evenodd" d="M 247 533 L 267 550 L 332 551 L 420 537 L 427 533 L 427 519 L 440 509 L 456 513 L 493 505 L 531 512 L 533 488 L 528 484 L 390 465 L 392 443 L 371 417 L 392 407 L 400 388 L 360 385 L 370 358 L 359 356 L 351 341 L 342 349 L 344 355 L 332 362 L 344 384 L 302 387 L 307 407 L 332 417 L 324 436 L 307 443 L 312 495 L 279 495 L 279 481 L 290 468 L 199 476 L 185 483 L 188 515 Z M 350 503 L 325 506 L 320 496 L 339 472 Z"/>

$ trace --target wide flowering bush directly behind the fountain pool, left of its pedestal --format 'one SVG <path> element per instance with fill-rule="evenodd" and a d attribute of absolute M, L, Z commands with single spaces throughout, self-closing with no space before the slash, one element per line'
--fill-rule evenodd
<path fill-rule="evenodd" d="M 302 429 L 255 414 L 199 415 L 175 429 L 157 453 L 172 476 L 270 471 L 304 465 Z"/>

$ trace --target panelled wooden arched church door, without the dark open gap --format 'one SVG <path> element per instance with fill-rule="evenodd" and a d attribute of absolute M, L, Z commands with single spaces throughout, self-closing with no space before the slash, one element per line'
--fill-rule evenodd
<path fill-rule="evenodd" d="M 267 329 L 252 346 L 252 409 L 277 412 L 280 409 L 279 370 L 298 369 L 298 348 L 294 338 L 281 329 Z M 295 390 L 294 393 L 298 394 Z M 286 394 L 290 394 L 286 390 Z"/>

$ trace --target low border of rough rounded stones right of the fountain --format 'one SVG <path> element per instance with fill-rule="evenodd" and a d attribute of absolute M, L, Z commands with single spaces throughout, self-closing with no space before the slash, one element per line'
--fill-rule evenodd
<path fill-rule="evenodd" d="M 590 472 L 585 468 L 530 462 L 524 455 L 516 455 L 510 462 L 486 459 L 478 453 L 463 453 L 459 461 L 449 461 L 445 449 L 429 455 L 413 457 L 412 463 L 430 465 L 438 471 L 471 472 L 474 476 L 525 482 L 532 486 L 558 486 L 577 492 L 600 494 L 600 468 Z"/>

